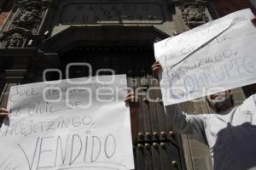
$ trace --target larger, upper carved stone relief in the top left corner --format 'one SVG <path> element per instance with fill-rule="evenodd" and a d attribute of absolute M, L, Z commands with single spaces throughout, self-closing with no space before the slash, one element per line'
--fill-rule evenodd
<path fill-rule="evenodd" d="M 26 3 L 20 7 L 20 13 L 15 16 L 12 29 L 21 27 L 26 30 L 34 30 L 40 25 L 42 14 L 43 8 L 41 3 Z"/>

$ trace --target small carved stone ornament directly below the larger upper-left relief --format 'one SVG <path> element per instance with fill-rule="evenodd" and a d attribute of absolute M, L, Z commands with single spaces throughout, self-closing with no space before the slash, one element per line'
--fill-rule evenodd
<path fill-rule="evenodd" d="M 6 38 L 4 48 L 21 48 L 25 38 L 22 37 L 19 33 L 15 33 L 10 37 Z"/>

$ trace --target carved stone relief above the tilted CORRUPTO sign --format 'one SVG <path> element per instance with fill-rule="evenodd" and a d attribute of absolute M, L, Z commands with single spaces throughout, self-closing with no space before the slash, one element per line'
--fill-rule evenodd
<path fill-rule="evenodd" d="M 208 22 L 206 7 L 197 4 L 184 4 L 181 7 L 182 18 L 186 26 L 194 28 Z"/>

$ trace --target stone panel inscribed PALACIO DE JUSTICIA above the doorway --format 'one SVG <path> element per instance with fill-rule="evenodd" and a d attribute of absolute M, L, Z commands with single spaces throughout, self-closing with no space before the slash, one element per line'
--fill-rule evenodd
<path fill-rule="evenodd" d="M 162 24 L 165 21 L 160 3 L 63 3 L 62 25 Z"/>

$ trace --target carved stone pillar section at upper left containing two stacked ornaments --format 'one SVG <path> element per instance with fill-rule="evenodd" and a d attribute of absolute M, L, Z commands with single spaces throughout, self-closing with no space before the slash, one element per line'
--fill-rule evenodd
<path fill-rule="evenodd" d="M 0 34 L 0 48 L 27 48 L 36 46 L 41 22 L 48 6 L 47 0 L 16 1 L 9 22 Z"/>

